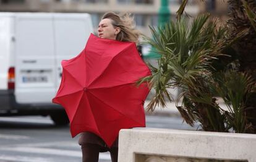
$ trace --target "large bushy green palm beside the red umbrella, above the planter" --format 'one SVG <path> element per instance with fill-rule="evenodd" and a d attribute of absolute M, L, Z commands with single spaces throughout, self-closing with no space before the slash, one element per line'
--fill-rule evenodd
<path fill-rule="evenodd" d="M 215 22 L 207 23 L 208 14 L 200 15 L 189 25 L 181 17 L 156 30 L 150 27 L 153 39 L 148 43 L 161 55 L 158 67 L 151 67 L 153 75 L 145 78 L 156 95 L 148 104 L 153 110 L 156 104 L 165 106 L 165 98 L 172 101 L 167 89 L 182 88 L 182 105 L 177 105 L 186 122 L 202 124 L 203 130 L 226 132 L 225 116 L 210 90 L 213 60 L 222 56 L 221 51 L 229 45 L 226 28 L 216 29 Z"/>

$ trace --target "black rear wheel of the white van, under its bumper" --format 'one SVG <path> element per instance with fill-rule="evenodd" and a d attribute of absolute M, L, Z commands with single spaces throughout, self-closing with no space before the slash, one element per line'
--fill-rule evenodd
<path fill-rule="evenodd" d="M 67 117 L 66 112 L 58 111 L 50 114 L 50 116 L 56 126 L 66 126 L 69 124 L 69 118 Z"/>

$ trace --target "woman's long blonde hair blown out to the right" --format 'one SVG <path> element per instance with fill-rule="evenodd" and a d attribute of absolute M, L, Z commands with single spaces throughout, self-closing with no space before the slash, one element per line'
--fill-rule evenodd
<path fill-rule="evenodd" d="M 135 30 L 134 17 L 131 17 L 130 14 L 106 12 L 102 19 L 111 19 L 114 27 L 121 28 L 121 31 L 116 36 L 116 40 L 134 41 L 135 43 L 138 43 L 140 32 Z"/>

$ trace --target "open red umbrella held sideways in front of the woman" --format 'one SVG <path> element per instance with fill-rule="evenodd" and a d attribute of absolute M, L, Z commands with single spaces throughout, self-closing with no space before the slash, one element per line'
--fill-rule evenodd
<path fill-rule="evenodd" d="M 85 49 L 62 61 L 62 79 L 53 103 L 61 104 L 72 137 L 93 132 L 111 147 L 120 129 L 145 127 L 143 103 L 149 88 L 135 82 L 151 75 L 135 43 L 91 34 Z"/>

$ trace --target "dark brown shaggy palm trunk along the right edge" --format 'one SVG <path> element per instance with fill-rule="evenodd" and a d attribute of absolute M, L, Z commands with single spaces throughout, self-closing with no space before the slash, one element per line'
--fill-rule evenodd
<path fill-rule="evenodd" d="M 237 33 L 245 35 L 233 46 L 239 56 L 239 70 L 252 76 L 256 82 L 256 2 L 254 0 L 229 0 L 229 33 L 234 38 Z M 252 124 L 250 132 L 256 133 L 256 93 L 253 93 L 245 106 L 247 122 Z"/>

